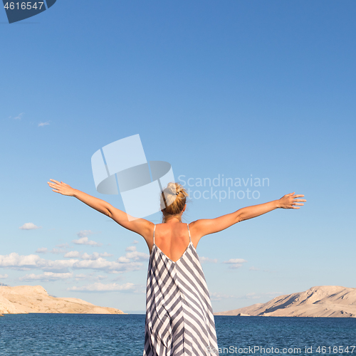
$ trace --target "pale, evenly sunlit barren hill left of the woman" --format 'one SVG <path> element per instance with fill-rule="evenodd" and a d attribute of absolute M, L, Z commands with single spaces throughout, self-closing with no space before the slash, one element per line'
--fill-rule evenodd
<path fill-rule="evenodd" d="M 78 298 L 56 298 L 41 286 L 0 286 L 1 313 L 125 314 L 122 310 L 98 307 Z"/>

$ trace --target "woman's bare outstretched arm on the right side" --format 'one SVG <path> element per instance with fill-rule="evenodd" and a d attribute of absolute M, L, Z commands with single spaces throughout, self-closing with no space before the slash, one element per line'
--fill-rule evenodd
<path fill-rule="evenodd" d="M 297 205 L 304 205 L 301 201 L 306 201 L 305 199 L 297 199 L 300 197 L 304 197 L 304 195 L 293 192 L 286 194 L 281 199 L 264 204 L 246 206 L 246 208 L 239 209 L 231 214 L 219 216 L 216 219 L 199 219 L 191 224 L 192 229 L 194 229 L 194 236 L 200 239 L 202 236 L 225 230 L 240 221 L 255 218 L 274 209 L 300 209 L 300 206 Z"/>

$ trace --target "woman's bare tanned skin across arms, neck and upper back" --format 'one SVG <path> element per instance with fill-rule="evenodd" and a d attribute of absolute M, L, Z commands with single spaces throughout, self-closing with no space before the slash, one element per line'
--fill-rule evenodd
<path fill-rule="evenodd" d="M 151 221 L 146 219 L 129 221 L 125 211 L 115 208 L 105 200 L 80 192 L 80 190 L 74 189 L 66 183 L 58 182 L 55 179 L 50 179 L 50 182 L 47 183 L 49 187 L 53 188 L 53 192 L 68 197 L 75 197 L 91 208 L 109 216 L 125 229 L 141 235 L 145 239 L 149 251 L 151 252 L 153 246 L 153 229 L 155 226 Z M 192 221 L 189 224 L 192 244 L 197 248 L 201 237 L 225 230 L 236 223 L 266 214 L 274 209 L 300 209 L 300 206 L 303 206 L 306 201 L 305 199 L 300 199 L 303 197 L 303 194 L 295 194 L 295 192 L 293 192 L 284 195 L 281 199 L 268 201 L 268 203 L 264 204 L 246 206 L 231 214 L 222 215 L 215 219 L 198 219 Z M 172 261 L 177 261 L 189 244 L 187 224 L 182 223 L 182 214 L 186 207 L 187 204 L 179 214 L 164 216 L 164 223 L 156 225 L 155 244 Z M 162 213 L 164 214 L 164 211 L 162 211 Z"/>

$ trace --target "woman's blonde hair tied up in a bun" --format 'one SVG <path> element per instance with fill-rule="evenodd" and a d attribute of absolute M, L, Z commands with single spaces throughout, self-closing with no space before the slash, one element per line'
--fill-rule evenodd
<path fill-rule="evenodd" d="M 168 183 L 161 193 L 162 223 L 169 215 L 177 215 L 182 212 L 188 197 L 187 191 L 179 183 Z"/>

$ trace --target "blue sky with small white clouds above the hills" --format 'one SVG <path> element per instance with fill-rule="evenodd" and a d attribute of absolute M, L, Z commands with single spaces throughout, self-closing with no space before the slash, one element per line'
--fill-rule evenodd
<path fill-rule="evenodd" d="M 0 283 L 145 310 L 144 239 L 46 183 L 124 209 L 96 192 L 90 158 L 140 134 L 181 182 L 268 178 L 258 199 L 191 187 L 186 222 L 308 199 L 199 241 L 214 312 L 356 287 L 355 14 L 355 1 L 58 0 L 9 25 L 0 11 Z"/>

